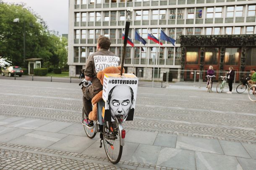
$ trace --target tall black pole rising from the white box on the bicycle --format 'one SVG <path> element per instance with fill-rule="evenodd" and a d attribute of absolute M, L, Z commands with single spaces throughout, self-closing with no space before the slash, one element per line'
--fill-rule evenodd
<path fill-rule="evenodd" d="M 121 71 L 120 71 L 121 76 L 123 75 L 123 64 L 125 63 L 126 45 L 127 45 L 129 28 L 130 28 L 130 23 L 131 23 L 131 20 L 130 20 L 131 12 L 132 12 L 132 8 L 127 10 L 128 19 L 125 21 L 125 35 L 124 35 L 124 40 L 123 40 L 123 54 L 122 54 Z"/>

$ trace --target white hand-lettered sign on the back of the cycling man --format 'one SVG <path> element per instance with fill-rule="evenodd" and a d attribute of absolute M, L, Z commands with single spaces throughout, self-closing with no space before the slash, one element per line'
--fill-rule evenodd
<path fill-rule="evenodd" d="M 120 58 L 117 56 L 94 56 L 94 65 L 96 73 L 104 70 L 109 66 L 117 67 L 119 66 L 119 62 Z"/>

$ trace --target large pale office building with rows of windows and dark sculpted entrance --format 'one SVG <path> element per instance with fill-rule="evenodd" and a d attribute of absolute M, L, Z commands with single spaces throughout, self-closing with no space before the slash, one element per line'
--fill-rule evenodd
<path fill-rule="evenodd" d="M 110 38 L 110 51 L 121 58 L 127 7 L 133 7 L 129 37 L 135 47 L 127 45 L 124 66 L 140 79 L 161 79 L 170 69 L 256 67 L 256 0 L 69 0 L 70 76 L 84 68 L 99 35 Z M 175 46 L 147 39 L 149 32 L 159 38 L 160 30 Z M 134 40 L 135 31 L 145 46 Z"/>

